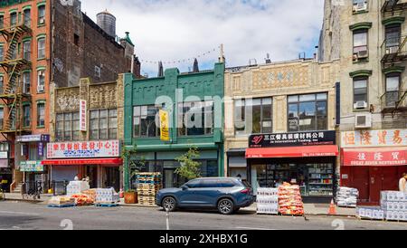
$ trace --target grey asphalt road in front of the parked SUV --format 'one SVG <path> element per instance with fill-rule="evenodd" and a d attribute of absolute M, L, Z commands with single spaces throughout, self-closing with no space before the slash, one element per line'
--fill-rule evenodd
<path fill-rule="evenodd" d="M 407 230 L 407 223 L 360 221 L 330 216 L 219 215 L 211 211 L 170 214 L 172 230 Z M 48 208 L 43 204 L 0 202 L 0 230 L 166 230 L 159 208 L 95 206 Z"/>

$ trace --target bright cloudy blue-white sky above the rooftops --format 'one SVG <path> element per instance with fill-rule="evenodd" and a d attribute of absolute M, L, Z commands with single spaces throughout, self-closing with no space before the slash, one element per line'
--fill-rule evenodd
<path fill-rule="evenodd" d="M 323 21 L 323 0 L 81 0 L 82 12 L 96 22 L 107 9 L 136 45 L 142 74 L 164 68 L 181 72 L 213 69 L 223 44 L 226 67 L 312 57 Z"/>

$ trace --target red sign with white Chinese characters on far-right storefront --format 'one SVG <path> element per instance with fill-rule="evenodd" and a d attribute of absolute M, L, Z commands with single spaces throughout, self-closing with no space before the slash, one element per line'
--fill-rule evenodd
<path fill-rule="evenodd" d="M 343 149 L 345 167 L 387 167 L 407 165 L 407 148 Z"/>

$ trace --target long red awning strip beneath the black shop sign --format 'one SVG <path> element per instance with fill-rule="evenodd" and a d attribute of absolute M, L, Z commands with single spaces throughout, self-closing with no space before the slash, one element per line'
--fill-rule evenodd
<path fill-rule="evenodd" d="M 336 157 L 337 146 L 304 146 L 291 148 L 248 148 L 246 158 L 263 157 Z"/>

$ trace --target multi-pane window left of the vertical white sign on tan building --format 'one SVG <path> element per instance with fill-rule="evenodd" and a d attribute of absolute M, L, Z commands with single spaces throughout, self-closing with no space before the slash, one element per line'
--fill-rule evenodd
<path fill-rule="evenodd" d="M 78 141 L 80 139 L 80 112 L 56 115 L 57 141 Z"/>

